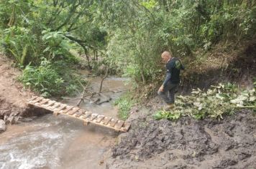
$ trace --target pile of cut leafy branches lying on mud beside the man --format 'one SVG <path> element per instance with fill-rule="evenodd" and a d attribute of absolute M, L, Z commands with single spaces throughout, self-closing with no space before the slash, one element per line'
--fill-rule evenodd
<path fill-rule="evenodd" d="M 158 110 L 153 117 L 155 120 L 177 120 L 183 116 L 196 119 L 214 117 L 222 119 L 224 114 L 232 114 L 237 108 L 256 109 L 255 87 L 252 90 L 238 92 L 235 84 L 219 84 L 211 86 L 203 92 L 200 89 L 193 90 L 191 95 L 179 95 L 175 100 L 175 108 L 170 111 Z"/>

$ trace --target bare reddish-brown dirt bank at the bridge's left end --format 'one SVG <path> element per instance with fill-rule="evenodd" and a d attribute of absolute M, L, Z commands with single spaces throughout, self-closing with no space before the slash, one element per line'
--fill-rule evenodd
<path fill-rule="evenodd" d="M 32 95 L 17 82 L 21 72 L 12 64 L 12 60 L 0 54 L 0 119 L 4 115 L 24 115 L 27 99 Z"/>

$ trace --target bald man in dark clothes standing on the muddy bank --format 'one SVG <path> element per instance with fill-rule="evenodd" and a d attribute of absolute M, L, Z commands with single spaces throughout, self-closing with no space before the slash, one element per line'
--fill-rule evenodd
<path fill-rule="evenodd" d="M 166 63 L 166 77 L 157 94 L 167 103 L 165 110 L 170 110 L 174 107 L 175 90 L 180 83 L 180 69 L 184 69 L 184 67 L 180 60 L 173 57 L 170 52 L 163 52 L 161 57 L 163 62 Z"/>

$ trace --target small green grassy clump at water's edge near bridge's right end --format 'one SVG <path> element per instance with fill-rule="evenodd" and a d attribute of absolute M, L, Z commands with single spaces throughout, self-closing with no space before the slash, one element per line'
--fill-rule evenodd
<path fill-rule="evenodd" d="M 126 95 L 119 97 L 119 99 L 114 102 L 114 105 L 119 107 L 119 118 L 127 120 L 129 117 L 129 111 L 134 105 L 134 101 L 132 100 L 131 94 L 127 93 Z"/>

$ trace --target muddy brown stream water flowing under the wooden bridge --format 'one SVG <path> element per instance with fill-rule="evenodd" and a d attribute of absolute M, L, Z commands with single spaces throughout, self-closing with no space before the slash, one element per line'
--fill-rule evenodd
<path fill-rule="evenodd" d="M 99 89 L 94 78 L 92 88 Z M 126 90 L 124 79 L 104 80 L 103 90 Z M 122 92 L 106 92 L 113 100 Z M 77 100 L 63 100 L 76 105 Z M 113 101 L 111 101 L 113 102 Z M 82 103 L 81 107 L 101 115 L 116 117 L 111 102 Z M 31 122 L 8 126 L 0 135 L 0 169 L 4 168 L 106 168 L 104 153 L 116 142 L 118 133 L 96 125 L 84 126 L 70 117 L 45 115 Z"/>

